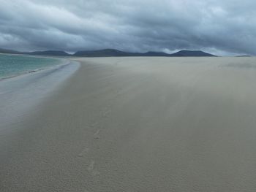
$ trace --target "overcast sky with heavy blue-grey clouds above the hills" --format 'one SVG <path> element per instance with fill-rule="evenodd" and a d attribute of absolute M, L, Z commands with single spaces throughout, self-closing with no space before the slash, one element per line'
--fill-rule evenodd
<path fill-rule="evenodd" d="M 0 47 L 256 55 L 255 0 L 0 0 Z"/>

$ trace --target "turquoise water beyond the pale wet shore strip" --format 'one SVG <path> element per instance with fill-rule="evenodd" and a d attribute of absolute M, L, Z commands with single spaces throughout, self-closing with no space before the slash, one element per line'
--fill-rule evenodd
<path fill-rule="evenodd" d="M 19 74 L 34 72 L 58 64 L 61 64 L 61 59 L 58 58 L 0 54 L 0 79 L 15 77 Z"/>

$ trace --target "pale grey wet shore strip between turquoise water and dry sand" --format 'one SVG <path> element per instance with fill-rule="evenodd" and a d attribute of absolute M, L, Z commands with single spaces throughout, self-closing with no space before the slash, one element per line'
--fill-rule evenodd
<path fill-rule="evenodd" d="M 10 121 L 15 121 L 20 115 L 28 114 L 33 107 L 57 91 L 79 66 L 78 62 L 67 60 L 64 64 L 1 79 L 0 100 L 4 101 L 0 104 L 1 127 L 8 126 Z M 3 128 L 0 128 L 1 131 Z"/>

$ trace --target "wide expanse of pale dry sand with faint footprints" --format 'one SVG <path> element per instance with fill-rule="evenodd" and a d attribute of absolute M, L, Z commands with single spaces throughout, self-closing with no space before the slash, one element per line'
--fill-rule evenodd
<path fill-rule="evenodd" d="M 256 191 L 255 58 L 76 58 L 0 141 L 0 191 Z"/>

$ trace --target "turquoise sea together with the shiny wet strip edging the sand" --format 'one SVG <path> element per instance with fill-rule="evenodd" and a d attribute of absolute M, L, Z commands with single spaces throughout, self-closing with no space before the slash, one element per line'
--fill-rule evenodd
<path fill-rule="evenodd" d="M 6 131 L 19 128 L 16 122 L 37 111 L 79 66 L 64 58 L 0 55 L 0 139 Z"/>

